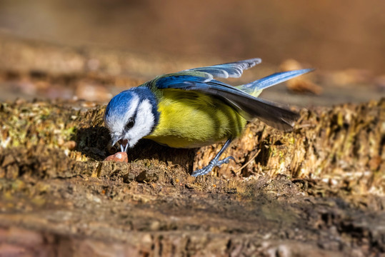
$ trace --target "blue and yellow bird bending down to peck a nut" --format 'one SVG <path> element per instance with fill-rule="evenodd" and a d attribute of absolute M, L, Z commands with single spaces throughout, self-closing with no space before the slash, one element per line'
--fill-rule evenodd
<path fill-rule="evenodd" d="M 254 119 L 282 131 L 291 131 L 299 114 L 288 106 L 259 98 L 261 91 L 313 69 L 271 74 L 262 79 L 231 86 L 217 79 L 239 78 L 261 59 L 186 69 L 156 76 L 140 86 L 122 91 L 106 106 L 104 124 L 110 145 L 120 143 L 126 152 L 141 138 L 173 148 L 198 148 L 223 142 L 219 153 L 191 176 L 210 173 L 234 157 L 220 159 L 246 123 Z"/>

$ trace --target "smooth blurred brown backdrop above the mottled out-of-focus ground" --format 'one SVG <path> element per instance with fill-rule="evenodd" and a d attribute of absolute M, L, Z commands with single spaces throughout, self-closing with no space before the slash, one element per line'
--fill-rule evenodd
<path fill-rule="evenodd" d="M 385 1 L 0 1 L 0 27 L 71 46 L 385 66 Z"/>

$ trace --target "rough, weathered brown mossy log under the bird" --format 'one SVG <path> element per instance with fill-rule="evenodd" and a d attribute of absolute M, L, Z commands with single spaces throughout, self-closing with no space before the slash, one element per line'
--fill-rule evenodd
<path fill-rule="evenodd" d="M 385 99 L 254 121 L 221 144 L 141 141 L 111 154 L 104 106 L 0 105 L 0 251 L 102 256 L 366 256 L 385 252 Z M 111 149 L 110 149 L 111 150 Z"/>

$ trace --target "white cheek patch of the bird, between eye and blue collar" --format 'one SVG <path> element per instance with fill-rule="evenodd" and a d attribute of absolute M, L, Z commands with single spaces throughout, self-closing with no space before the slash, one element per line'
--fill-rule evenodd
<path fill-rule="evenodd" d="M 152 106 L 148 99 L 139 104 L 135 125 L 129 130 L 129 133 L 127 133 L 130 147 L 134 146 L 140 138 L 147 136 L 151 132 L 155 124 L 155 117 L 151 110 Z"/>

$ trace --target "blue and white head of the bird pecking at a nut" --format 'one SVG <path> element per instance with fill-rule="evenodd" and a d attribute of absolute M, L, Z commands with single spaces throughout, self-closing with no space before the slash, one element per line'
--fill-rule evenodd
<path fill-rule="evenodd" d="M 156 97 L 147 87 L 136 87 L 114 96 L 104 114 L 104 124 L 111 133 L 111 146 L 119 141 L 121 151 L 149 135 L 158 121 Z"/>

